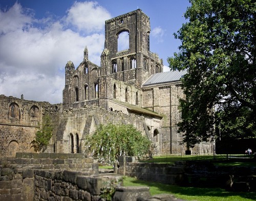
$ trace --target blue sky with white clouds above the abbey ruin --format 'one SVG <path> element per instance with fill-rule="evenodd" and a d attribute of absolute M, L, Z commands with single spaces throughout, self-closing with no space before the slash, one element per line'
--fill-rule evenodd
<path fill-rule="evenodd" d="M 141 9 L 150 17 L 150 49 L 163 59 L 178 52 L 173 36 L 183 23 L 188 0 L 0 0 L 0 94 L 62 102 L 65 65 L 77 67 L 88 47 L 100 65 L 104 21 Z"/>

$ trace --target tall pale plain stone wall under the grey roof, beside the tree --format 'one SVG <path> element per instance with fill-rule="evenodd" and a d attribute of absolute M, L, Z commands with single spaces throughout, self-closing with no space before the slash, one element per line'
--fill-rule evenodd
<path fill-rule="evenodd" d="M 184 94 L 180 82 L 143 87 L 143 107 L 163 115 L 161 124 L 161 152 L 179 153 L 182 134 L 177 124 L 181 121 L 179 98 Z"/>

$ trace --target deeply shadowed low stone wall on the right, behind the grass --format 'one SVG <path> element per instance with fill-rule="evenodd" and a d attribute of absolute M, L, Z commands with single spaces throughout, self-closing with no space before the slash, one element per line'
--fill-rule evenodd
<path fill-rule="evenodd" d="M 193 187 L 218 187 L 232 191 L 256 191 L 256 167 L 215 166 L 208 161 L 178 161 L 174 165 L 139 163 L 135 157 L 119 157 L 114 172 L 139 180 Z"/>

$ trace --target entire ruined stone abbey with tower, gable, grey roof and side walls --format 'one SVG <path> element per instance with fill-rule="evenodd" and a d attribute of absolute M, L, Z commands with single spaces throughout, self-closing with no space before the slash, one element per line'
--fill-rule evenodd
<path fill-rule="evenodd" d="M 186 72 L 163 72 L 162 60 L 150 52 L 150 31 L 150 18 L 140 9 L 106 20 L 100 66 L 88 59 L 87 47 L 77 68 L 68 61 L 61 104 L 0 95 L 0 155 L 34 152 L 32 141 L 46 114 L 54 125 L 46 152 L 83 153 L 84 138 L 109 122 L 133 124 L 156 152 L 185 150 L 177 123 Z M 123 33 L 129 35 L 129 49 L 120 51 Z"/>

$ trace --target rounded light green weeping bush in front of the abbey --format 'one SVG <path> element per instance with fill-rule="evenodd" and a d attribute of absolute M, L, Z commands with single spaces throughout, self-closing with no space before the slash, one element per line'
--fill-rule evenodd
<path fill-rule="evenodd" d="M 87 136 L 85 150 L 97 159 L 113 163 L 119 155 L 141 157 L 148 153 L 151 141 L 133 125 L 100 124 L 91 136 Z"/>

